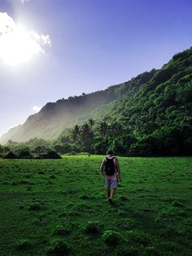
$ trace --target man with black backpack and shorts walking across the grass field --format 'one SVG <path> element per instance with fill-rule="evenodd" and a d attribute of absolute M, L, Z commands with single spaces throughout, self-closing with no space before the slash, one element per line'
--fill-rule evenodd
<path fill-rule="evenodd" d="M 105 187 L 107 189 L 108 201 L 110 204 L 113 204 L 113 197 L 116 193 L 117 181 L 121 180 L 121 172 L 119 162 L 114 156 L 114 152 L 109 150 L 108 154 L 109 156 L 105 157 L 101 163 L 100 172 L 105 176 Z"/>

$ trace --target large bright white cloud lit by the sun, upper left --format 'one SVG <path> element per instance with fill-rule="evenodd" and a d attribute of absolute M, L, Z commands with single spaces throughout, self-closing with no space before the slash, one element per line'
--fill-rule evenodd
<path fill-rule="evenodd" d="M 39 34 L 17 24 L 7 13 L 0 12 L 0 60 L 9 66 L 18 66 L 34 55 L 45 53 L 51 46 L 49 35 Z"/>

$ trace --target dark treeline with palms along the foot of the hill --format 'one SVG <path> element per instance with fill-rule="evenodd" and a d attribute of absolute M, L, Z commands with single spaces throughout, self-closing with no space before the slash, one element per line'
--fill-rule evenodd
<path fill-rule="evenodd" d="M 93 119 L 63 132 L 54 149 L 60 154 L 86 151 L 105 154 L 112 148 L 116 154 L 127 156 L 191 155 L 192 126 L 164 126 L 162 129 L 139 134 L 123 123 L 96 123 Z"/>

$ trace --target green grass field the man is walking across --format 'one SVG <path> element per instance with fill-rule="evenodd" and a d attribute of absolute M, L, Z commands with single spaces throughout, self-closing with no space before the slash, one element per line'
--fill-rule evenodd
<path fill-rule="evenodd" d="M 119 158 L 114 205 L 102 159 L 0 160 L 0 255 L 191 255 L 192 158 Z"/>

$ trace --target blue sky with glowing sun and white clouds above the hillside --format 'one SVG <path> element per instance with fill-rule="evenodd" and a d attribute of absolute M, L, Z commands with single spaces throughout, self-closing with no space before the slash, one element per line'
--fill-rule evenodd
<path fill-rule="evenodd" d="M 0 0 L 0 136 L 191 46 L 191 0 Z"/>

